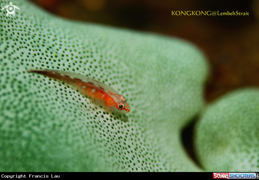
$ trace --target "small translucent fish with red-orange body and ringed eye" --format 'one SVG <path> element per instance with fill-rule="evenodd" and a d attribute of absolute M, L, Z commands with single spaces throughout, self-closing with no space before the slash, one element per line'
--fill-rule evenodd
<path fill-rule="evenodd" d="M 28 70 L 28 72 L 43 74 L 72 85 L 96 105 L 111 112 L 120 114 L 130 112 L 130 106 L 123 95 L 96 79 L 60 70 Z"/>

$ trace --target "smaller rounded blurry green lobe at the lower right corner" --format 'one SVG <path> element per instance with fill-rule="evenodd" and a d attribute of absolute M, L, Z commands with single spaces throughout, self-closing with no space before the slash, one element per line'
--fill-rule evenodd
<path fill-rule="evenodd" d="M 204 111 L 196 151 L 208 171 L 259 170 L 259 89 L 227 94 Z"/>

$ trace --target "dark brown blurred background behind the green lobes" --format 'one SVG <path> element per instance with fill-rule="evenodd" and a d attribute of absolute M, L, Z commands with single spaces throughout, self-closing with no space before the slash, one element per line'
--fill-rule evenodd
<path fill-rule="evenodd" d="M 207 102 L 246 86 L 259 86 L 259 0 L 31 0 L 69 19 L 149 31 L 186 39 L 199 46 L 211 67 Z M 249 15 L 172 15 L 172 11 L 218 11 Z M 193 124 L 183 144 L 194 158 Z"/>

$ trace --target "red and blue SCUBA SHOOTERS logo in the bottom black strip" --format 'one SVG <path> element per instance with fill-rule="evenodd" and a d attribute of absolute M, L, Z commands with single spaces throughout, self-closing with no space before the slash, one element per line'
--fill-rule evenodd
<path fill-rule="evenodd" d="M 258 179 L 258 173 L 213 173 L 213 179 Z"/>

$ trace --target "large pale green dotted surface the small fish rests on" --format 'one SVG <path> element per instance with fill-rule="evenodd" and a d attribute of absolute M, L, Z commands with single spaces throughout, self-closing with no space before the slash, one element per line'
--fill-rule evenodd
<path fill-rule="evenodd" d="M 208 70 L 199 50 L 15 5 L 15 17 L 0 10 L 0 171 L 201 170 L 179 138 L 203 106 Z M 26 71 L 40 68 L 96 74 L 131 111 L 110 114 L 67 84 Z"/>

